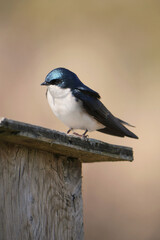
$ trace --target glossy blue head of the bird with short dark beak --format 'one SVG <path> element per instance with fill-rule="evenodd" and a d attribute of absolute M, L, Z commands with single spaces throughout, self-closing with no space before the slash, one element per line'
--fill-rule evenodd
<path fill-rule="evenodd" d="M 41 85 L 55 85 L 61 88 L 73 89 L 79 82 L 80 80 L 75 73 L 66 68 L 56 68 L 47 74 L 45 81 Z"/>

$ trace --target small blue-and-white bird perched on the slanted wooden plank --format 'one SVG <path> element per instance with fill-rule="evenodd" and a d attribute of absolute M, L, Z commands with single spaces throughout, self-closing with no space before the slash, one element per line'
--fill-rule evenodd
<path fill-rule="evenodd" d="M 72 71 L 59 67 L 50 71 L 42 86 L 47 86 L 46 97 L 57 118 L 69 127 L 71 131 L 81 129 L 82 135 L 99 131 L 117 137 L 138 139 L 126 126 L 131 124 L 115 117 L 100 101 L 98 92 L 87 87 Z M 126 125 L 126 126 L 125 126 Z"/>

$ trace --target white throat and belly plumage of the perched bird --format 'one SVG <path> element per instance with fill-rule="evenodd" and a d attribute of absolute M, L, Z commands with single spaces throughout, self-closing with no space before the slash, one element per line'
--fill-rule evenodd
<path fill-rule="evenodd" d="M 83 110 L 82 102 L 76 101 L 69 88 L 49 86 L 47 99 L 53 113 L 69 128 L 94 131 L 104 127 Z"/>

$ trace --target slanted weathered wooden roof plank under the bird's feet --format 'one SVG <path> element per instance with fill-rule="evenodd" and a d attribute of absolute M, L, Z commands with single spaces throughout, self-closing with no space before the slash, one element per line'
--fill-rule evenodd
<path fill-rule="evenodd" d="M 133 161 L 132 148 L 95 139 L 81 139 L 47 128 L 6 118 L 0 119 L 0 141 L 79 159 L 81 162 Z"/>

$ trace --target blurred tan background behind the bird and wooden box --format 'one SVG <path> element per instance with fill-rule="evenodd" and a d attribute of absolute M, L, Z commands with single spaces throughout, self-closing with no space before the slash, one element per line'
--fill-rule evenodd
<path fill-rule="evenodd" d="M 56 67 L 101 94 L 139 140 L 134 162 L 83 165 L 86 240 L 160 239 L 160 1 L 1 1 L 0 115 L 67 131 L 40 83 Z"/>

